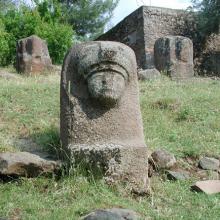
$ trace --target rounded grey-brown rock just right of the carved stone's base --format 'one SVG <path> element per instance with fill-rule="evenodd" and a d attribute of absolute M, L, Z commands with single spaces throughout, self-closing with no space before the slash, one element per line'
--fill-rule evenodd
<path fill-rule="evenodd" d="M 168 169 L 176 163 L 175 156 L 165 150 L 156 150 L 151 154 L 151 157 L 158 169 Z"/>

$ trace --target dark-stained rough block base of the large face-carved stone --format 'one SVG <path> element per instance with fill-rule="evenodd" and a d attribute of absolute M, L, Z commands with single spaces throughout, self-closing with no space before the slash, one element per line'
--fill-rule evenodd
<path fill-rule="evenodd" d="M 108 184 L 126 183 L 130 190 L 147 192 L 147 148 L 125 147 L 115 144 L 69 145 L 72 167 L 89 171 Z"/>

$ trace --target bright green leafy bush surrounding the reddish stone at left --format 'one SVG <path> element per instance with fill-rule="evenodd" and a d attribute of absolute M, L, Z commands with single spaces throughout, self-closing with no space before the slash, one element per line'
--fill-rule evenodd
<path fill-rule="evenodd" d="M 2 16 L 0 65 L 14 63 L 17 41 L 33 34 L 47 41 L 53 63 L 62 63 L 66 51 L 72 44 L 72 28 L 59 23 L 58 20 L 46 21 L 37 8 L 21 6 L 19 9 L 9 10 Z"/>

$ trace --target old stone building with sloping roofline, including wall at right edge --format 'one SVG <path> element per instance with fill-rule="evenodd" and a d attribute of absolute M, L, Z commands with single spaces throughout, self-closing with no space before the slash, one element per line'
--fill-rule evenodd
<path fill-rule="evenodd" d="M 184 10 L 142 6 L 128 15 L 97 40 L 119 41 L 130 46 L 136 54 L 138 67 L 154 68 L 154 43 L 167 35 L 191 36 L 194 22 Z M 195 41 L 195 39 L 192 39 Z M 211 36 L 201 52 L 194 46 L 195 64 L 202 74 L 220 75 L 220 35 Z"/>

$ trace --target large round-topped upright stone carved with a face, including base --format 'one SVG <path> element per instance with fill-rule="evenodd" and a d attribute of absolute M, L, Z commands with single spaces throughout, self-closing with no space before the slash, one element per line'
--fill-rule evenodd
<path fill-rule="evenodd" d="M 61 75 L 60 120 L 63 152 L 73 167 L 97 172 L 108 183 L 147 189 L 147 148 L 131 48 L 97 41 L 69 51 Z"/>

